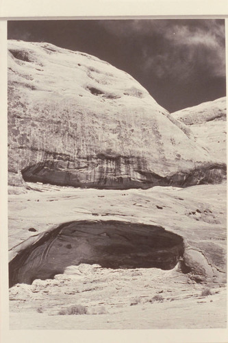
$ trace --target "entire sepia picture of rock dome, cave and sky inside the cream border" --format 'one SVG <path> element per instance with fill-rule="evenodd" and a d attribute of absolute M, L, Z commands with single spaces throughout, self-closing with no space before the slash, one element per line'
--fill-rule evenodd
<path fill-rule="evenodd" d="M 226 322 L 225 21 L 8 21 L 10 329 Z"/>

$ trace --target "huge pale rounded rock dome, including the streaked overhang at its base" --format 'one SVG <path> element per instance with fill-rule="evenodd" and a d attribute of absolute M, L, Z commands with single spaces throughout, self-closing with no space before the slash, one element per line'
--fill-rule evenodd
<path fill-rule="evenodd" d="M 220 182 L 225 165 L 124 71 L 46 43 L 8 43 L 9 184 L 127 189 Z"/>

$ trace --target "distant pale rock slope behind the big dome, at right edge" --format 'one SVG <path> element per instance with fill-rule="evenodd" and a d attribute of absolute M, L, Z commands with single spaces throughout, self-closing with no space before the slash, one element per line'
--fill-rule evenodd
<path fill-rule="evenodd" d="M 185 108 L 172 113 L 173 117 L 185 123 L 211 156 L 227 162 L 227 98 Z"/>

